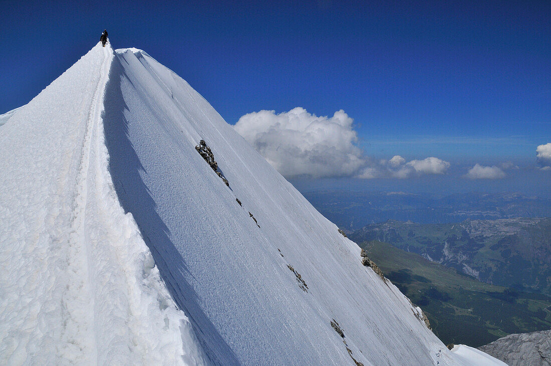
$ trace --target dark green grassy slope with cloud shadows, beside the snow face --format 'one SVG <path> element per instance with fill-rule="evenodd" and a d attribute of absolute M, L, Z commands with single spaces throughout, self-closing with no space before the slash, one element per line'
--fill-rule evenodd
<path fill-rule="evenodd" d="M 511 333 L 551 328 L 551 298 L 479 282 L 387 243 L 360 245 L 444 343 L 478 347 Z"/>

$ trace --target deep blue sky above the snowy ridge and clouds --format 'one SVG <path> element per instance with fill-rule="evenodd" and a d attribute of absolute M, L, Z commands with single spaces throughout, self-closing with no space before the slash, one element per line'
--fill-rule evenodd
<path fill-rule="evenodd" d="M 363 3 L 363 4 L 358 4 Z M 551 2 L 0 0 L 0 113 L 107 28 L 229 123 L 343 109 L 371 156 L 533 161 L 551 142 Z"/>

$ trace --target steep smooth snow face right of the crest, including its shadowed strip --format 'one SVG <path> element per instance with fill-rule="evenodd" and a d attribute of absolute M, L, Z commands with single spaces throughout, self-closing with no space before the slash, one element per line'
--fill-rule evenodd
<path fill-rule="evenodd" d="M 358 246 L 186 81 L 143 51 L 116 53 L 110 172 L 210 363 L 456 363 Z"/>

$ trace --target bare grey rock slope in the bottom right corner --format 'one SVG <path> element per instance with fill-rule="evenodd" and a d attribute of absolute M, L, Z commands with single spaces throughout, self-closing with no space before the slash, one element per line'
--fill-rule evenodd
<path fill-rule="evenodd" d="M 551 365 L 551 330 L 510 334 L 478 349 L 510 366 L 549 366 Z"/>

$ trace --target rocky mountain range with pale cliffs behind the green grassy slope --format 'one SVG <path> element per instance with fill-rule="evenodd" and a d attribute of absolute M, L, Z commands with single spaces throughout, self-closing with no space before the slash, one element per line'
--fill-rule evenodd
<path fill-rule="evenodd" d="M 480 281 L 551 294 L 551 218 L 420 224 L 389 220 L 349 235 L 382 241 Z"/>

